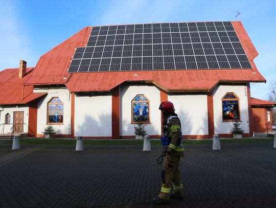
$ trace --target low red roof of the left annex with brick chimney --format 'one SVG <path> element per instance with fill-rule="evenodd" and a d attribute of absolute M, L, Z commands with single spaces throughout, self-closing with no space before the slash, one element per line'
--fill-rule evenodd
<path fill-rule="evenodd" d="M 33 86 L 23 86 L 30 77 L 33 68 L 27 68 L 27 75 L 18 77 L 18 68 L 8 68 L 0 72 L 0 104 L 26 104 L 47 93 L 33 93 Z M 24 89 L 23 89 L 24 88 Z M 22 93 L 24 91 L 24 97 Z"/>

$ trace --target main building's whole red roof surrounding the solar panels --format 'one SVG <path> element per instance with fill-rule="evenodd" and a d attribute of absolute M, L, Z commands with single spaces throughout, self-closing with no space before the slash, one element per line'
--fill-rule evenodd
<path fill-rule="evenodd" d="M 88 41 L 91 27 L 87 27 L 43 55 L 25 84 L 65 84 L 70 91 L 78 92 L 109 91 L 126 81 L 151 82 L 166 91 L 211 90 L 219 82 L 229 81 L 265 82 L 253 62 L 258 52 L 243 25 L 240 21 L 232 24 L 252 69 L 67 73 L 75 49 L 85 47 Z"/>

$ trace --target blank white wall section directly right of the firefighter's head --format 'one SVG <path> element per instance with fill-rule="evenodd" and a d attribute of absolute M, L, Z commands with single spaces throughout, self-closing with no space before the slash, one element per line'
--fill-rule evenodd
<path fill-rule="evenodd" d="M 183 135 L 208 134 L 208 105 L 206 95 L 168 94 L 175 113 L 181 121 Z"/>

